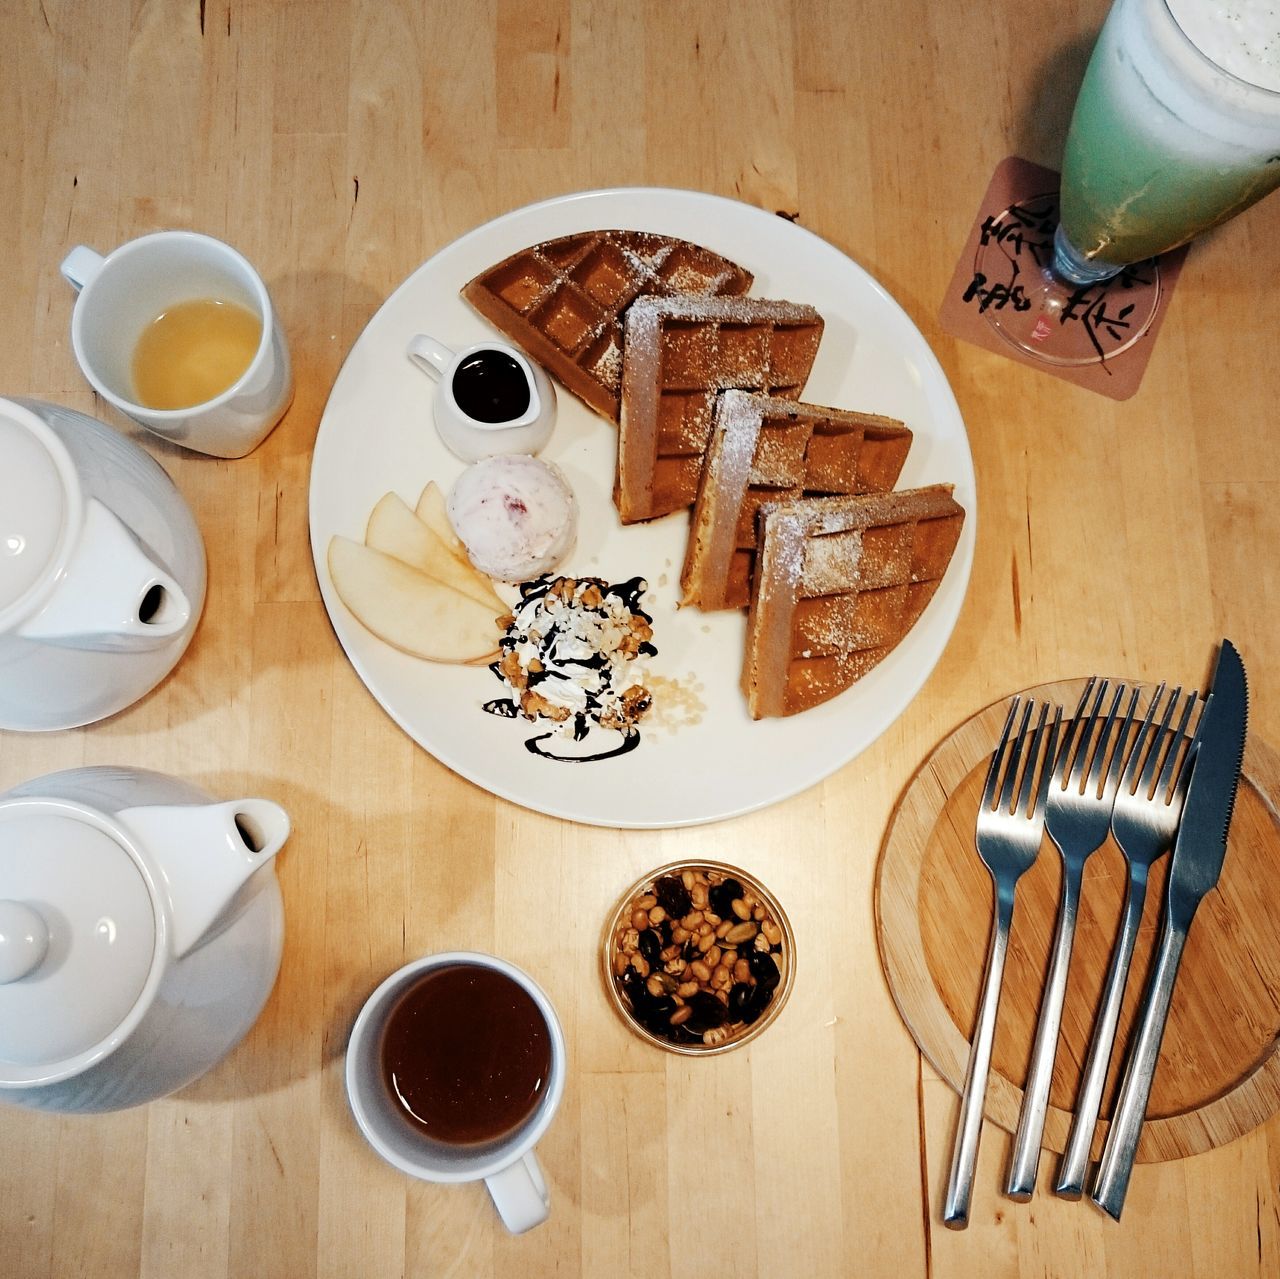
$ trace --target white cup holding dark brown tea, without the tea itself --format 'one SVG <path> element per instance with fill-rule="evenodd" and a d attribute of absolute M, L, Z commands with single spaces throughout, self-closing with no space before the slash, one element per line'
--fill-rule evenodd
<path fill-rule="evenodd" d="M 451 965 L 492 968 L 529 992 L 547 1023 L 552 1065 L 547 1091 L 513 1132 L 475 1146 L 451 1146 L 415 1132 L 383 1083 L 381 1040 L 396 1000 L 424 973 Z M 494 955 L 445 951 L 426 955 L 392 973 L 369 996 L 347 1045 L 347 1100 L 360 1130 L 387 1162 L 425 1182 L 479 1182 L 512 1234 L 547 1220 L 550 1193 L 534 1146 L 550 1125 L 564 1092 L 564 1033 L 541 987 L 525 972 Z"/>

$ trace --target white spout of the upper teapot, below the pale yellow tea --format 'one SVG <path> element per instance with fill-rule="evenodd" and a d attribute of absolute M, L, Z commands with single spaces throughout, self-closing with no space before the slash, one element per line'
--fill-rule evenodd
<path fill-rule="evenodd" d="M 27 639 L 105 652 L 159 648 L 191 621 L 191 603 L 97 498 L 63 580 L 18 627 Z"/>

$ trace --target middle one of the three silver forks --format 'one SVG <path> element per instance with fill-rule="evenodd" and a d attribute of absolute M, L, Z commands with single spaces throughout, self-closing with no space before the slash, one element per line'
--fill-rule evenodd
<path fill-rule="evenodd" d="M 1137 702 L 1134 698 L 1129 704 L 1120 740 L 1111 753 L 1110 764 L 1106 764 L 1107 748 L 1115 732 L 1116 714 L 1125 691 L 1123 684 L 1116 685 L 1110 711 L 1103 720 L 1102 703 L 1108 688 L 1107 680 L 1098 681 L 1096 676 L 1085 685 L 1057 755 L 1044 810 L 1044 825 L 1062 858 L 1062 891 L 1059 897 L 1053 951 L 1041 1000 L 1039 1019 L 1036 1023 L 1036 1042 L 1032 1046 L 1032 1061 L 1023 1090 L 1023 1109 L 1018 1116 L 1018 1132 L 1014 1136 L 1014 1152 L 1005 1187 L 1005 1193 L 1019 1202 L 1029 1200 L 1036 1189 L 1041 1138 L 1044 1134 L 1044 1116 L 1048 1111 L 1048 1090 L 1053 1079 L 1053 1058 L 1057 1055 L 1057 1034 L 1062 1023 L 1066 974 L 1071 967 L 1075 919 L 1080 908 L 1084 863 L 1101 848 L 1111 826 L 1111 801 L 1120 780 L 1124 735 Z M 1100 721 L 1101 728 L 1094 736 Z"/>

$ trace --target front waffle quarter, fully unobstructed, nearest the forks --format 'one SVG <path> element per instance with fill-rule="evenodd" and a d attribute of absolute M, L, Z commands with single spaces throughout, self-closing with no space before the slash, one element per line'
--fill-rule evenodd
<path fill-rule="evenodd" d="M 963 524 L 950 484 L 763 507 L 742 664 L 751 716 L 806 711 L 892 652 Z"/>

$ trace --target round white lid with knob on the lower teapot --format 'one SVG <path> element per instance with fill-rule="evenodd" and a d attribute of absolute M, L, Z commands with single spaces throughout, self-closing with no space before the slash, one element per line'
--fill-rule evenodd
<path fill-rule="evenodd" d="M 51 1082 L 115 1047 L 155 951 L 151 890 L 104 817 L 0 804 L 0 1084 Z"/>

